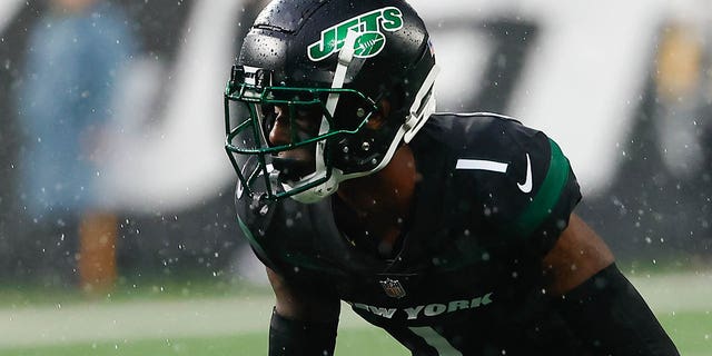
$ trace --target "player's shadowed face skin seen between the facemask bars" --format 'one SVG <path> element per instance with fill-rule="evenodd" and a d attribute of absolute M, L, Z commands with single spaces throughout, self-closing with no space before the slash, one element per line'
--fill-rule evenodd
<path fill-rule="evenodd" d="M 322 109 L 319 106 L 275 106 L 274 122 L 268 127 L 268 140 L 271 146 L 296 144 L 316 137 L 319 134 Z M 273 156 L 273 165 L 285 180 L 298 180 L 315 170 L 314 145 L 299 146 L 279 151 Z"/>

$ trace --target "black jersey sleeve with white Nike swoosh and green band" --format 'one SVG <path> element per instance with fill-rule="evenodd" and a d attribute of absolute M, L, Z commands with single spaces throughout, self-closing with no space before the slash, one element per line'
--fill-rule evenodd
<path fill-rule="evenodd" d="M 458 152 L 475 168 L 456 170 L 474 192 L 475 212 L 497 239 L 545 254 L 581 200 L 568 159 L 544 132 L 515 120 L 485 121 L 478 131 L 468 149 Z"/>

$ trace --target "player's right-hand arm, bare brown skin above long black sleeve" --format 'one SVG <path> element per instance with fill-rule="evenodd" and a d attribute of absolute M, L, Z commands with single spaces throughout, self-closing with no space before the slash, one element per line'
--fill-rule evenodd
<path fill-rule="evenodd" d="M 679 355 L 609 247 L 576 215 L 543 267 L 562 315 L 590 346 L 606 355 Z"/>

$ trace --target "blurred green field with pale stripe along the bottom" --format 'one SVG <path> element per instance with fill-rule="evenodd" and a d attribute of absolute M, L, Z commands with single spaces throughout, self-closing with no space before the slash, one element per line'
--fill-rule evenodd
<path fill-rule="evenodd" d="M 712 355 L 710 269 L 627 271 L 681 355 Z M 230 283 L 145 284 L 88 300 L 69 294 L 0 289 L 0 355 L 265 355 L 273 297 Z M 212 289 L 211 289 L 212 288 Z M 344 309 L 336 354 L 408 355 Z"/>

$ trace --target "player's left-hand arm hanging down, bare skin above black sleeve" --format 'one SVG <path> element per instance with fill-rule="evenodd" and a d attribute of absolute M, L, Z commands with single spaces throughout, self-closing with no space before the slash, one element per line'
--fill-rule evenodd
<path fill-rule="evenodd" d="M 276 305 L 269 324 L 269 356 L 330 356 L 340 303 L 318 290 L 298 288 L 267 268 Z"/>

